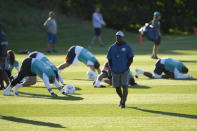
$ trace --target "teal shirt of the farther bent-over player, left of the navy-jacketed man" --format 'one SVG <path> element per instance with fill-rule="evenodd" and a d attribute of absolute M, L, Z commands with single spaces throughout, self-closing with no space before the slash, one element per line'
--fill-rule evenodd
<path fill-rule="evenodd" d="M 88 61 L 91 61 L 92 63 L 95 63 L 97 61 L 97 59 L 93 56 L 93 54 L 85 48 L 81 50 L 78 56 L 78 60 L 83 62 L 85 65 L 88 64 Z"/>

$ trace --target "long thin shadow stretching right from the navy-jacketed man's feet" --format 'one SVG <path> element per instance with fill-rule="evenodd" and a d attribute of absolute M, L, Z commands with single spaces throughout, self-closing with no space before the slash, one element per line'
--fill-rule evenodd
<path fill-rule="evenodd" d="M 164 111 L 155 111 L 155 110 L 142 109 L 142 108 L 138 108 L 138 107 L 128 107 L 128 108 L 139 110 L 139 111 L 143 111 L 143 112 L 154 113 L 154 114 L 161 114 L 161 115 L 168 115 L 168 116 L 176 116 L 176 117 L 197 119 L 197 115 L 172 113 L 172 112 L 164 112 Z"/>

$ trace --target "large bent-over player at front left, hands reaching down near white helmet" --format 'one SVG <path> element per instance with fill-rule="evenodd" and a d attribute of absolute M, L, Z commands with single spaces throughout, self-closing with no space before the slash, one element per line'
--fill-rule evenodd
<path fill-rule="evenodd" d="M 55 86 L 61 91 L 61 93 L 64 94 L 62 87 L 57 81 L 57 75 L 47 63 L 34 58 L 26 58 L 22 63 L 21 69 L 16 79 L 14 79 L 11 84 L 4 90 L 4 95 L 11 96 L 12 94 L 10 94 L 10 90 L 13 87 L 13 91 L 17 95 L 17 89 L 22 87 L 20 81 L 26 76 L 36 75 L 38 75 L 44 81 L 46 88 L 52 96 L 56 97 L 57 95 L 53 92 L 50 83 L 54 83 Z"/>

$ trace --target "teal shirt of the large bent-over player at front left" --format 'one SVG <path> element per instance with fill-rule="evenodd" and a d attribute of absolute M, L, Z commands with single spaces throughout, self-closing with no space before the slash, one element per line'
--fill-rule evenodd
<path fill-rule="evenodd" d="M 45 73 L 48 78 L 50 78 L 50 76 L 55 78 L 56 76 L 50 65 L 38 59 L 32 60 L 31 70 L 32 73 L 39 75 L 40 78 L 43 78 L 43 73 Z"/>

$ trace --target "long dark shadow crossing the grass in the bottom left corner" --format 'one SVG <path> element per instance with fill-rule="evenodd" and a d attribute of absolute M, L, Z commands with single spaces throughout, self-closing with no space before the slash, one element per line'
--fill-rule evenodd
<path fill-rule="evenodd" d="M 62 125 L 56 124 L 56 123 L 42 122 L 42 121 L 35 121 L 35 120 L 27 120 L 27 119 L 24 119 L 24 118 L 18 118 L 18 117 L 13 117 L 13 116 L 2 116 L 2 115 L 0 115 L 0 119 L 13 121 L 13 122 L 18 122 L 18 123 L 37 125 L 37 126 L 48 126 L 48 127 L 53 127 L 53 128 L 66 128 L 66 127 L 63 127 Z"/>

